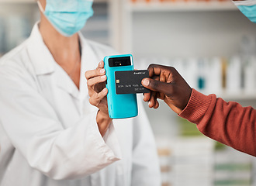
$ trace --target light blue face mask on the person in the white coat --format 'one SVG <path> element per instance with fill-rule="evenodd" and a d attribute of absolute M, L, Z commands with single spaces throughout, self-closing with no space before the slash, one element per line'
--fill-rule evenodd
<path fill-rule="evenodd" d="M 77 33 L 93 15 L 92 0 L 47 0 L 44 11 L 37 2 L 43 14 L 63 36 Z"/>

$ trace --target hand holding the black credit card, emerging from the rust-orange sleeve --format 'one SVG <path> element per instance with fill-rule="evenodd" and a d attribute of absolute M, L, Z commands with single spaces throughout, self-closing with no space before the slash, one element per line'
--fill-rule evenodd
<path fill-rule="evenodd" d="M 144 94 L 144 101 L 150 108 L 158 108 L 159 98 L 177 114 L 182 112 L 192 93 L 189 84 L 174 67 L 150 64 L 147 70 L 150 78 L 144 78 L 141 83 L 151 91 Z"/>

